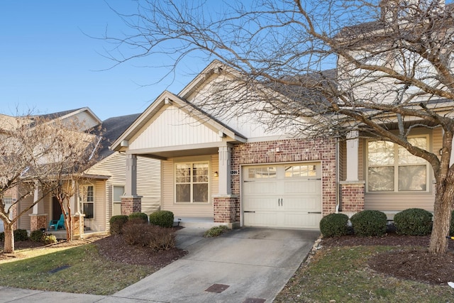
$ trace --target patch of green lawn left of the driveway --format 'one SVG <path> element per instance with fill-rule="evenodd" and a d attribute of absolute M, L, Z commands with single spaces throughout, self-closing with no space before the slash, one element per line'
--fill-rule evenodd
<path fill-rule="evenodd" d="M 62 266 L 68 268 L 50 272 Z M 94 244 L 0 265 L 0 285 L 86 294 L 114 294 L 155 271 L 106 260 Z"/>

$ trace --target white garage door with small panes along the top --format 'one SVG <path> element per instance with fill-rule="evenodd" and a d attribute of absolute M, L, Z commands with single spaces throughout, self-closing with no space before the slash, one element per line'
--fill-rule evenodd
<path fill-rule="evenodd" d="M 320 163 L 243 167 L 245 226 L 319 228 Z"/>

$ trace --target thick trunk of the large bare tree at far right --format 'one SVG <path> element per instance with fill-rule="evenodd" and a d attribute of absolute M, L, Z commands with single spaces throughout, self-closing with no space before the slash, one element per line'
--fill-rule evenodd
<path fill-rule="evenodd" d="M 435 202 L 433 203 L 433 228 L 428 251 L 445 253 L 448 249 L 449 226 L 453 209 L 454 187 L 449 182 L 436 184 Z"/>

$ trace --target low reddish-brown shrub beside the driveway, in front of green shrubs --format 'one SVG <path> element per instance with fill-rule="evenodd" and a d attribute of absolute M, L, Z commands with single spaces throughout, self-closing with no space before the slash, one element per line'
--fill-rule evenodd
<path fill-rule="evenodd" d="M 156 251 L 175 248 L 174 230 L 153 224 L 129 221 L 123 226 L 123 239 L 129 245 L 148 246 Z"/>

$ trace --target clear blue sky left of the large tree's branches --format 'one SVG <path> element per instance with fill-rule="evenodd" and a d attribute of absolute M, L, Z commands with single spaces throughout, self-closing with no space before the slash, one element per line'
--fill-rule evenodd
<path fill-rule="evenodd" d="M 111 0 L 133 11 L 131 0 Z M 175 81 L 165 70 L 113 62 L 111 45 L 90 38 L 126 26 L 103 0 L 0 1 L 0 114 L 48 114 L 89 106 L 101 120 L 144 111 L 165 89 L 178 93 L 206 62 L 188 60 Z M 146 60 L 146 59 L 145 59 Z M 137 63 L 135 63 L 137 64 Z M 145 64 L 145 63 L 144 63 Z M 102 70 L 102 71 L 101 71 Z"/>

